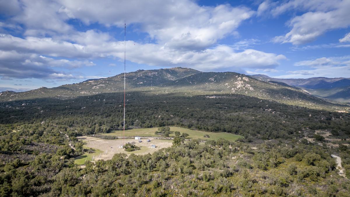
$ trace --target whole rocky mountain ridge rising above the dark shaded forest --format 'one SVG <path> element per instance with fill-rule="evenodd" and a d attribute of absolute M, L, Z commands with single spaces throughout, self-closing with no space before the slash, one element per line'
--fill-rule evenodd
<path fill-rule="evenodd" d="M 338 82 L 339 80 L 329 79 L 327 84 L 324 83 L 324 86 L 329 85 L 330 82 Z M 343 86 L 343 84 L 348 82 L 346 80 L 338 82 L 334 86 Z M 258 77 L 256 75 L 249 76 L 235 72 L 200 72 L 181 67 L 137 70 L 126 73 L 126 88 L 128 92 L 144 91 L 155 96 L 169 93 L 187 96 L 234 93 L 314 109 L 327 108 L 340 110 L 344 109 L 344 107 L 348 109 L 348 106 L 330 103 L 310 95 L 304 88 L 301 89 L 288 84 L 290 81 L 292 80 L 280 81 L 279 79 L 265 75 Z M 299 79 L 295 81 L 299 81 L 298 84 L 312 85 L 311 82 L 303 82 Z M 318 82 L 321 81 L 318 80 Z M 294 82 L 293 84 L 296 83 Z M 0 101 L 6 102 L 37 98 L 69 99 L 78 96 L 121 92 L 123 88 L 124 73 L 103 79 L 91 79 L 80 83 L 66 84 L 55 88 L 42 87 L 20 93 L 5 91 L 0 94 Z M 348 94 L 348 92 L 338 91 L 337 93 L 339 93 L 338 96 L 340 97 Z"/>

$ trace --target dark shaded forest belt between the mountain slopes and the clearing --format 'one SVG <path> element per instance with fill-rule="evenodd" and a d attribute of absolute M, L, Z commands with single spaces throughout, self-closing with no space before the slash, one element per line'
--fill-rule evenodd
<path fill-rule="evenodd" d="M 108 133 L 122 128 L 122 110 L 118 103 L 121 103 L 120 93 L 69 100 L 6 102 L 0 103 L 0 122 L 45 121 L 65 127 L 71 135 Z M 167 125 L 262 140 L 300 138 L 305 131 L 318 129 L 334 130 L 340 136 L 350 134 L 350 116 L 346 113 L 288 106 L 237 94 L 222 94 L 215 98 L 144 92 L 128 94 L 126 128 Z"/>

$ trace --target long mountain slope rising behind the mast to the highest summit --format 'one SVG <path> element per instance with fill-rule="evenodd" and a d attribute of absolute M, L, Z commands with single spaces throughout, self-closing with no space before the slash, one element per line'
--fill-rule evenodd
<path fill-rule="evenodd" d="M 168 68 L 156 70 L 137 70 L 126 73 L 126 88 L 137 89 L 158 86 L 159 84 L 177 80 L 186 76 L 201 73 L 190 68 Z M 55 88 L 41 87 L 16 94 L 0 97 L 0 101 L 35 99 L 41 97 L 68 99 L 77 96 L 87 96 L 107 92 L 116 92 L 124 89 L 124 73 L 116 76 L 90 79 L 80 83 L 65 84 Z"/>

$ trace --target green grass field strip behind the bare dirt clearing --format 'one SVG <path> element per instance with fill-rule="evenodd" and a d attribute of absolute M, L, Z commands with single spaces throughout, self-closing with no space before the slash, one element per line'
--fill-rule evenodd
<path fill-rule="evenodd" d="M 145 128 L 145 129 L 130 129 L 130 130 L 125 130 L 125 136 L 161 137 L 159 135 L 154 134 L 156 130 L 158 130 L 158 127 Z M 179 131 L 180 133 L 189 134 L 190 136 L 188 136 L 187 139 L 218 140 L 219 138 L 224 138 L 225 140 L 235 141 L 238 138 L 242 137 L 240 135 L 234 135 L 229 133 L 212 133 L 212 132 L 205 132 L 205 131 L 195 131 L 195 130 L 190 130 L 190 129 L 181 128 L 181 127 L 170 127 L 170 131 L 172 132 L 172 134 L 170 134 L 170 137 L 175 136 L 174 131 Z M 123 131 L 113 131 L 111 133 L 102 134 L 102 135 L 122 136 Z M 205 138 L 204 135 L 209 135 L 210 138 Z"/>

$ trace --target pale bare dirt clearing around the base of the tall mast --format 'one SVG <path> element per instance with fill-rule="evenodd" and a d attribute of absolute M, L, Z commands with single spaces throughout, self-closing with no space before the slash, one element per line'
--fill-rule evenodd
<path fill-rule="evenodd" d="M 123 148 L 120 148 L 123 144 L 123 139 L 117 139 L 117 140 L 103 140 L 96 137 L 88 137 L 88 136 L 82 136 L 78 137 L 78 140 L 83 140 L 85 142 L 86 147 L 92 148 L 92 149 L 99 149 L 102 151 L 101 155 L 96 155 L 94 158 L 95 160 L 98 159 L 111 159 L 114 154 L 117 153 L 125 153 L 127 155 L 135 154 L 135 155 L 145 155 L 148 153 L 153 153 L 161 148 L 167 148 L 172 146 L 173 141 L 172 140 L 158 140 L 158 139 L 150 139 L 151 142 L 147 142 L 148 138 L 142 138 L 142 142 L 138 142 L 139 140 L 134 139 L 125 139 L 124 142 L 135 142 L 135 145 L 141 148 L 141 150 L 127 152 Z M 151 145 L 156 145 L 156 148 L 151 148 Z"/>

